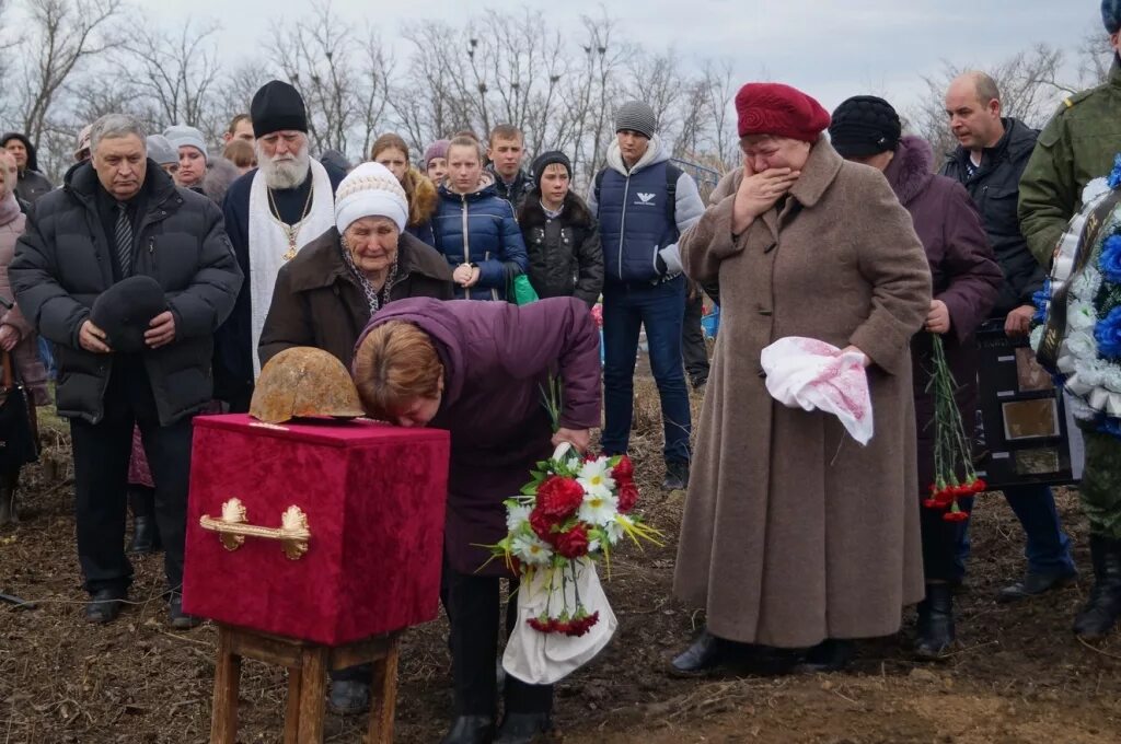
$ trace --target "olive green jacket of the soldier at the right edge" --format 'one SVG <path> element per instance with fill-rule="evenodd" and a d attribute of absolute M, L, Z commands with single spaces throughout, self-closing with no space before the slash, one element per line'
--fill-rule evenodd
<path fill-rule="evenodd" d="M 1082 189 L 1109 175 L 1121 152 L 1121 66 L 1109 80 L 1063 101 L 1039 132 L 1020 180 L 1020 232 L 1045 267 L 1067 222 L 1082 208 Z"/>

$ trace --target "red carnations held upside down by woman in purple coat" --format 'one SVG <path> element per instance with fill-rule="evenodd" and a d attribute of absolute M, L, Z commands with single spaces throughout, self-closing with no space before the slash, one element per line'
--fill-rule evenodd
<path fill-rule="evenodd" d="M 970 513 L 957 503 L 958 499 L 984 492 L 985 482 L 973 468 L 973 452 L 965 436 L 961 411 L 954 392 L 957 383 L 946 362 L 942 336 L 932 333 L 934 370 L 927 390 L 934 393 L 934 483 L 930 496 L 923 501 L 927 509 L 942 510 L 947 522 L 964 522 Z M 958 474 L 963 477 L 958 480 Z"/>

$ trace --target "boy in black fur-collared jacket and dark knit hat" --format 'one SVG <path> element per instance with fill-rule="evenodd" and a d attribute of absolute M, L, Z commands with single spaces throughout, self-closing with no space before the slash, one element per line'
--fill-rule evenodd
<path fill-rule="evenodd" d="M 569 188 L 572 162 L 564 152 L 545 152 L 531 175 L 534 188 L 518 210 L 529 282 L 538 297 L 575 297 L 592 307 L 603 290 L 603 251 L 595 218 Z"/>

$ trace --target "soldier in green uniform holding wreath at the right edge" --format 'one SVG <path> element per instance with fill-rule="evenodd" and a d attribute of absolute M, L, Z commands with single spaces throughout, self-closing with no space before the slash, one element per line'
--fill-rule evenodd
<path fill-rule="evenodd" d="M 1121 53 L 1121 0 L 1102 1 L 1102 20 L 1110 34 L 1110 44 Z M 1114 56 L 1110 78 L 1104 85 L 1073 95 L 1063 102 L 1059 112 L 1039 134 L 1038 145 L 1028 161 L 1020 180 L 1020 230 L 1028 241 L 1028 248 L 1044 266 L 1051 262 L 1060 240 L 1064 251 L 1067 223 L 1083 210 L 1083 189 L 1091 180 L 1110 176 L 1110 187 L 1121 186 L 1121 167 L 1113 169 L 1114 156 L 1121 151 L 1121 56 Z M 1086 197 L 1090 199 L 1090 197 Z M 1086 212 L 1101 208 L 1100 201 L 1091 201 Z M 1112 202 L 1117 205 L 1118 202 Z M 1099 262 L 1104 258 L 1106 239 L 1121 235 L 1121 206 L 1112 206 L 1105 224 L 1093 244 L 1085 244 L 1078 251 L 1092 251 L 1084 264 L 1084 273 L 1096 275 Z M 1082 217 L 1080 217 L 1081 220 Z M 1072 231 L 1074 230 L 1072 224 Z M 1086 240 L 1083 233 L 1078 242 Z M 1117 257 L 1109 257 L 1113 260 Z M 1064 266 L 1066 257 L 1055 261 L 1056 271 Z M 1104 266 L 1104 264 L 1103 264 Z M 1115 272 L 1113 272 L 1115 273 Z M 1104 268 L 1102 283 L 1114 282 L 1115 277 Z M 1057 278 L 1053 273 L 1053 279 Z M 1113 310 L 1115 290 L 1102 287 L 1101 291 L 1086 289 L 1086 277 L 1078 287 L 1076 276 L 1071 277 L 1071 297 L 1082 303 L 1085 311 L 1088 305 L 1094 314 L 1092 333 L 1109 332 L 1113 318 L 1105 317 Z M 1096 287 L 1096 285 L 1094 285 Z M 1109 289 L 1109 291 L 1106 291 Z M 1078 294 L 1085 295 L 1080 297 Z M 1108 301 L 1110 306 L 1099 305 Z M 1077 311 L 1077 310 L 1075 310 Z M 1048 324 L 1050 319 L 1048 319 Z M 1073 324 L 1072 324 L 1073 325 Z M 1106 326 L 1103 328 L 1103 326 Z M 1041 331 L 1041 329 L 1040 329 Z M 1114 328 L 1115 331 L 1115 328 Z M 1073 334 L 1072 329 L 1068 335 Z M 1115 406 L 1102 404 L 1103 396 L 1112 399 L 1121 393 L 1115 379 L 1119 359 L 1112 347 L 1106 347 L 1108 333 L 1093 345 L 1097 359 L 1083 360 L 1058 368 L 1069 375 L 1065 387 L 1078 394 L 1082 402 L 1072 397 L 1071 404 L 1085 441 L 1085 471 L 1080 486 L 1083 512 L 1090 521 L 1090 552 L 1094 564 L 1094 586 L 1086 604 L 1074 622 L 1074 631 L 1082 638 L 1095 639 L 1108 633 L 1121 619 L 1121 420 L 1112 415 Z M 1084 344 L 1085 345 L 1085 344 Z M 1066 346 L 1073 357 L 1078 353 Z M 1093 355 L 1091 354 L 1091 356 Z M 1081 365 L 1080 365 L 1081 364 Z M 1105 368 L 1105 372 L 1101 368 Z M 1099 371 L 1102 380 L 1087 376 L 1087 372 Z M 1073 374 L 1072 374 L 1073 372 Z M 1076 384 L 1080 373 L 1086 380 Z M 1106 380 L 1105 378 L 1110 378 Z M 1101 384 L 1099 384 L 1101 383 Z M 1084 388 L 1097 389 L 1093 396 L 1085 396 Z"/>

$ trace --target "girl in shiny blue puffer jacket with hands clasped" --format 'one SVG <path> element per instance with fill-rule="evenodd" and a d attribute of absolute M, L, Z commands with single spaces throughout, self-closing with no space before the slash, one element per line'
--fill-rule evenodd
<path fill-rule="evenodd" d="M 447 146 L 447 178 L 432 226 L 458 299 L 504 300 L 509 282 L 529 268 L 513 207 L 495 194 L 479 142 L 469 137 Z"/>

